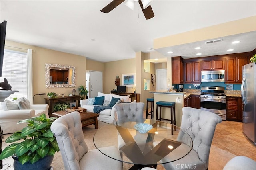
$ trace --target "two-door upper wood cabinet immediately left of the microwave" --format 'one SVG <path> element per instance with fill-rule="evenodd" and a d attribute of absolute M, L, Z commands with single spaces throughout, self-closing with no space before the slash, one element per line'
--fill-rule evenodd
<path fill-rule="evenodd" d="M 201 61 L 185 62 L 185 83 L 201 83 Z"/>

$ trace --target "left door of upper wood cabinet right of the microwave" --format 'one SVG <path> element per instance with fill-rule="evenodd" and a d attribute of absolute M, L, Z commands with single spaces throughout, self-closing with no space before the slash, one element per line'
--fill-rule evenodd
<path fill-rule="evenodd" d="M 236 82 L 236 58 L 226 59 L 225 83 Z"/>

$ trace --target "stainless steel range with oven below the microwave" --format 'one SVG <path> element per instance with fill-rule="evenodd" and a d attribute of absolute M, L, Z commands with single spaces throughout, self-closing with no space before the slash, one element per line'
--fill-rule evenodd
<path fill-rule="evenodd" d="M 205 86 L 201 88 L 201 110 L 210 111 L 226 120 L 226 95 L 224 87 Z"/>

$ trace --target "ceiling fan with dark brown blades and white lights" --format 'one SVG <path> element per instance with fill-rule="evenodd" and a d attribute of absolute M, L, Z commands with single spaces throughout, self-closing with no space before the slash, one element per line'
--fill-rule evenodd
<path fill-rule="evenodd" d="M 118 5 L 120 5 L 122 2 L 124 2 L 125 0 L 113 0 L 112 2 L 110 2 L 107 6 L 105 6 L 102 10 L 100 10 L 101 12 L 104 13 L 108 13 L 110 11 L 112 11 L 114 8 L 116 8 Z M 154 12 L 151 8 L 150 2 L 152 0 L 126 0 L 126 6 L 128 6 L 129 8 L 131 8 L 132 10 L 134 10 L 134 4 L 135 1 L 138 1 L 140 4 L 140 8 L 142 9 L 142 12 L 146 18 L 146 20 L 153 18 Z"/>

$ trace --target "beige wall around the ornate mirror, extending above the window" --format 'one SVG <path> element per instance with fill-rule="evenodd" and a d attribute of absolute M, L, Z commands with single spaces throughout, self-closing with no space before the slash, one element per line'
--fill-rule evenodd
<path fill-rule="evenodd" d="M 8 47 L 12 46 L 12 47 Z M 13 48 L 16 47 L 16 48 Z M 85 85 L 86 75 L 86 57 L 40 48 L 32 45 L 16 43 L 12 41 L 5 42 L 5 49 L 24 51 L 23 49 L 32 49 L 33 55 L 33 94 L 55 92 L 57 94 L 72 94 L 73 88 L 45 88 L 45 63 L 71 65 L 76 67 L 76 95 L 78 95 L 78 86 Z M 13 89 L 14 90 L 14 89 Z M 18 89 L 15 89 L 18 90 Z M 35 104 L 44 104 L 46 95 L 35 96 Z"/>

